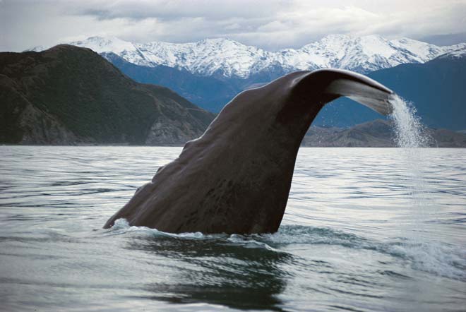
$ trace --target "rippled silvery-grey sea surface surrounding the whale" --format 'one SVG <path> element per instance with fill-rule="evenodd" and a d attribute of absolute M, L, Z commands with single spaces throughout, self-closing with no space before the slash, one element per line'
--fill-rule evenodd
<path fill-rule="evenodd" d="M 102 229 L 180 151 L 0 146 L 0 310 L 466 310 L 465 149 L 301 148 L 275 234 Z"/>

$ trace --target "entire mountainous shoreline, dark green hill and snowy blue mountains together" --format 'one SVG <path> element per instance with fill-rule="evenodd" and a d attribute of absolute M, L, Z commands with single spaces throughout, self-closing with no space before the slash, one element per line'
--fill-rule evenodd
<path fill-rule="evenodd" d="M 342 44 L 340 49 L 338 44 Z M 103 58 L 76 46 L 89 46 Z M 282 61 L 276 61 L 280 59 L 276 56 L 278 52 L 265 52 L 225 39 L 192 44 L 133 44 L 117 38 L 90 37 L 46 51 L 43 47 L 34 49 L 42 52 L 0 53 L 0 142 L 181 145 L 200 136 L 215 117 L 191 102 L 217 112 L 241 90 L 299 69 L 289 64 L 307 64 L 313 68 L 340 66 L 366 73 L 415 102 L 438 146 L 465 146 L 465 135 L 460 131 L 466 128 L 465 46 L 437 47 L 407 38 L 331 35 L 301 49 L 282 50 L 282 56 L 289 59 L 284 61 L 283 56 Z M 165 56 L 167 59 L 160 64 L 154 61 L 155 57 L 150 64 L 131 62 L 147 61 L 150 47 L 153 53 L 163 47 L 166 53 L 160 54 L 159 59 Z M 312 47 L 322 56 L 320 63 L 315 61 L 318 59 L 315 55 L 313 61 L 306 59 L 304 51 L 311 55 Z M 197 63 L 195 59 L 188 60 L 189 55 L 204 55 L 202 51 L 205 51 L 202 60 Z M 297 56 L 300 53 L 302 57 Z M 224 58 L 219 56 L 215 61 L 217 54 Z M 253 58 L 262 55 L 262 64 L 275 55 L 275 63 L 262 67 L 248 65 L 247 69 L 251 59 L 241 63 L 246 54 Z M 212 56 L 212 64 L 208 64 L 208 55 Z M 241 57 L 236 58 L 237 55 Z M 191 65 L 174 65 L 180 59 L 184 61 L 179 64 Z M 235 61 L 246 67 L 230 66 Z M 195 67 L 198 69 L 194 70 Z M 214 67 L 215 70 L 208 69 Z M 377 70 L 370 71 L 371 68 Z M 191 102 L 153 83 L 175 90 Z M 380 115 L 370 109 L 340 98 L 318 114 L 303 144 L 392 146 L 389 122 L 374 121 L 377 118 Z"/>

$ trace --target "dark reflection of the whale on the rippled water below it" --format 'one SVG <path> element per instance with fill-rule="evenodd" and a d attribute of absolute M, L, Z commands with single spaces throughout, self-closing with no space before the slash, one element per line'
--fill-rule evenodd
<path fill-rule="evenodd" d="M 179 260 L 180 268 L 168 283 L 145 288 L 151 299 L 177 304 L 205 302 L 242 309 L 277 309 L 277 294 L 285 289 L 287 272 L 280 269 L 291 256 L 267 249 L 251 252 L 244 246 L 217 241 L 148 239 L 130 248 Z M 173 282 L 176 280 L 177 282 Z"/>

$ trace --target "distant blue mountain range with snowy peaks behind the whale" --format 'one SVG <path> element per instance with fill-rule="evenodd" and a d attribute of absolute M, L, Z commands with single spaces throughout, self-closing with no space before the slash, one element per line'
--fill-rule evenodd
<path fill-rule="evenodd" d="M 431 127 L 466 128 L 465 43 L 438 47 L 409 38 L 328 35 L 301 49 L 277 52 L 222 38 L 136 44 L 115 37 L 90 37 L 71 44 L 88 47 L 134 80 L 163 85 L 210 112 L 220 112 L 242 90 L 290 71 L 336 67 L 386 84 L 414 102 Z M 326 105 L 314 124 L 348 127 L 379 117 L 351 100 L 339 99 Z"/>

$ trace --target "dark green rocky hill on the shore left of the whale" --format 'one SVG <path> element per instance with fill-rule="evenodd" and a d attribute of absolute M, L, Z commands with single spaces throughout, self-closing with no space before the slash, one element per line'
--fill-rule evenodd
<path fill-rule="evenodd" d="M 90 49 L 0 53 L 0 143 L 183 144 L 214 115 Z"/>

